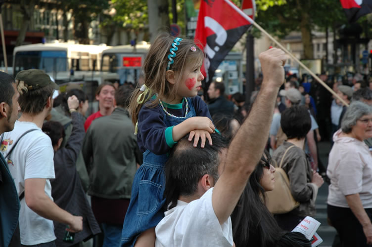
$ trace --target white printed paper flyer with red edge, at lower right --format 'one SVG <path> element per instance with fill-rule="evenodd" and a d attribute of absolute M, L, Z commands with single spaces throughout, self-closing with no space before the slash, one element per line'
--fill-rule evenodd
<path fill-rule="evenodd" d="M 311 246 L 312 247 L 316 247 L 318 245 L 320 245 L 323 240 L 321 239 L 321 237 L 316 233 L 317 229 L 319 228 L 319 226 L 321 225 L 321 223 L 310 217 L 310 216 L 306 216 L 306 218 L 304 218 L 300 224 L 298 224 L 293 230 L 292 232 L 299 232 L 299 233 L 302 233 L 303 235 L 305 235 L 305 237 L 311 241 Z"/>

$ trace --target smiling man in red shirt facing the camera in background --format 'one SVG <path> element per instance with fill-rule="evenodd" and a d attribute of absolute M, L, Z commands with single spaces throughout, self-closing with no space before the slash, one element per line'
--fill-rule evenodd
<path fill-rule="evenodd" d="M 114 95 L 115 87 L 111 82 L 103 82 L 97 87 L 95 99 L 98 101 L 98 111 L 85 121 L 85 132 L 87 132 L 94 119 L 110 115 L 114 111 Z"/>

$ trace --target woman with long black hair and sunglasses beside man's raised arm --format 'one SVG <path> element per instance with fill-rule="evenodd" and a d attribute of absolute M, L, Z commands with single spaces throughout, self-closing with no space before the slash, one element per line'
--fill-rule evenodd
<path fill-rule="evenodd" d="M 265 192 L 274 189 L 274 172 L 270 155 L 265 150 L 231 215 L 236 247 L 311 246 L 303 234 L 281 230 L 266 207 Z"/>

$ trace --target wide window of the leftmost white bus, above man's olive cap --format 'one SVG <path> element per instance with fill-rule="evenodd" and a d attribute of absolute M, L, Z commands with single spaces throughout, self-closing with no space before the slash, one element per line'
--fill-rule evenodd
<path fill-rule="evenodd" d="M 19 51 L 15 53 L 14 75 L 21 70 L 67 71 L 66 51 Z"/>

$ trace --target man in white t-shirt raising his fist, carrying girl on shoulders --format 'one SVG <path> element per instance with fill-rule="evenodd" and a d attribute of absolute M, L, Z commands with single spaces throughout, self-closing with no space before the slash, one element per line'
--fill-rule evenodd
<path fill-rule="evenodd" d="M 259 95 L 226 155 L 218 141 L 213 140 L 216 150 L 195 150 L 192 143 L 182 140 L 172 152 L 183 164 L 166 165 L 166 196 L 174 207 L 165 212 L 155 228 L 155 247 L 233 246 L 230 215 L 264 151 L 267 141 L 262 137 L 269 134 L 276 97 L 284 81 L 286 58 L 277 48 L 260 54 L 264 80 Z M 217 150 L 221 150 L 220 156 Z M 195 153 L 195 159 L 193 152 L 202 152 L 206 157 Z"/>

